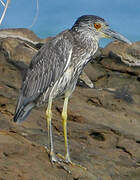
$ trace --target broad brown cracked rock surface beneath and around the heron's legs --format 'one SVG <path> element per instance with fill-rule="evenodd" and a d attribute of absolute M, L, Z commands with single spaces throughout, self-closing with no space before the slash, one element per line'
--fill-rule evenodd
<path fill-rule="evenodd" d="M 64 169 L 58 164 L 51 165 L 44 148 L 45 107 L 34 109 L 20 125 L 12 122 L 21 76 L 8 58 L 1 48 L 1 180 L 139 180 L 139 67 L 129 67 L 106 56 L 85 68 L 96 89 L 77 87 L 68 110 L 71 158 L 85 166 L 85 171 L 78 166 L 63 164 Z M 55 151 L 64 154 L 62 106 L 62 99 L 53 103 L 53 135 Z"/>

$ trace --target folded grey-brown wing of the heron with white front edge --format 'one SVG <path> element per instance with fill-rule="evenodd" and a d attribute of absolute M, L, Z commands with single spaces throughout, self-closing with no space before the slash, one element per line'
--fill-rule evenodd
<path fill-rule="evenodd" d="M 24 104 L 35 101 L 56 82 L 67 69 L 72 55 L 69 38 L 58 36 L 46 43 L 33 57 L 24 78 L 20 101 Z M 23 102 L 20 102 L 20 104 Z"/>

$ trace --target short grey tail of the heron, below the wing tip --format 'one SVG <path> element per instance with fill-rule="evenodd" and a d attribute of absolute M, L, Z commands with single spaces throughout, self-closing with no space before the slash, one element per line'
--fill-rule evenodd
<path fill-rule="evenodd" d="M 35 103 L 33 102 L 26 105 L 22 105 L 20 107 L 17 106 L 15 115 L 13 118 L 14 122 L 20 123 L 24 121 L 27 118 L 27 116 L 30 114 L 34 106 L 35 106 Z"/>

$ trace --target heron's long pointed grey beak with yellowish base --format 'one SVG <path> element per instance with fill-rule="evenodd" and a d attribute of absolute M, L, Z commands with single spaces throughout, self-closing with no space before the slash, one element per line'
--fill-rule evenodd
<path fill-rule="evenodd" d="M 103 32 L 103 36 L 105 38 L 113 38 L 113 39 L 116 39 L 118 41 L 122 41 L 122 42 L 125 42 L 128 44 L 131 44 L 131 42 L 127 38 L 125 38 L 120 33 L 113 31 L 112 29 L 106 28 L 106 29 L 103 29 L 102 32 Z"/>

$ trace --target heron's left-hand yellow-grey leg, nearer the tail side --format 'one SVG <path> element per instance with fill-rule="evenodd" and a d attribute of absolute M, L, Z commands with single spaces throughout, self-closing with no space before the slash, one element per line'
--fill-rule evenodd
<path fill-rule="evenodd" d="M 51 119 L 52 119 L 52 99 L 49 99 L 48 102 L 48 108 L 46 110 L 46 117 L 47 117 L 47 128 L 48 128 L 48 144 L 49 144 L 49 149 L 50 149 L 50 158 L 51 162 L 56 162 L 57 158 L 54 153 L 54 148 L 53 148 L 53 138 L 52 138 L 52 125 L 51 125 Z"/>

